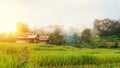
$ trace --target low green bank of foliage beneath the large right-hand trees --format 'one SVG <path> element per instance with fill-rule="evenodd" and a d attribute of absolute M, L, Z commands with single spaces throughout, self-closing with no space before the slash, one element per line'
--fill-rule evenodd
<path fill-rule="evenodd" d="M 105 36 L 100 38 L 94 38 L 92 41 L 94 41 L 94 45 L 97 48 L 119 48 L 119 37 L 116 35 L 112 36 Z M 112 42 L 114 44 L 108 45 L 107 42 Z"/>

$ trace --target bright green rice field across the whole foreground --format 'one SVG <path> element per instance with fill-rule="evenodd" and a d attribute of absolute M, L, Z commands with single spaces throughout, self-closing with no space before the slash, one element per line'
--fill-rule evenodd
<path fill-rule="evenodd" d="M 0 68 L 119 68 L 119 49 L 0 43 Z"/>

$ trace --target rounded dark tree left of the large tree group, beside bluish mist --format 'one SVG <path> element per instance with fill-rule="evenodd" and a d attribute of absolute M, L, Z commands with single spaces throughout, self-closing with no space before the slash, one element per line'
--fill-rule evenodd
<path fill-rule="evenodd" d="M 85 29 L 82 32 L 82 36 L 81 36 L 81 40 L 88 42 L 91 40 L 92 34 L 91 34 L 91 30 L 90 29 Z"/>

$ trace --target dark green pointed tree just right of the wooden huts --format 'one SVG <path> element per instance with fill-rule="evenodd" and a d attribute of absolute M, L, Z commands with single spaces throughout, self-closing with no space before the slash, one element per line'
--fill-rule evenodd
<path fill-rule="evenodd" d="M 60 28 L 56 28 L 52 33 L 49 34 L 51 44 L 62 45 L 65 43 L 64 36 Z"/>

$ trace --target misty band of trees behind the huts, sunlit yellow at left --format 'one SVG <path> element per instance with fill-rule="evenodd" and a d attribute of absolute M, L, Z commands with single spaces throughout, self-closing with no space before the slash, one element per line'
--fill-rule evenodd
<path fill-rule="evenodd" d="M 69 31 L 64 30 L 62 26 L 52 25 L 46 28 L 30 29 L 27 24 L 17 23 L 16 32 L 1 33 L 0 41 L 15 42 L 20 33 L 34 32 L 40 35 L 48 35 L 50 44 L 54 45 L 71 45 L 76 47 L 104 47 L 106 44 L 98 46 L 97 42 L 119 42 L 120 37 L 120 20 L 113 19 L 95 19 L 93 29 L 86 28 L 82 32 L 71 28 Z M 113 45 L 116 46 L 117 44 Z"/>

